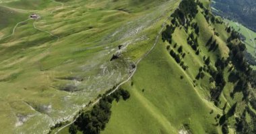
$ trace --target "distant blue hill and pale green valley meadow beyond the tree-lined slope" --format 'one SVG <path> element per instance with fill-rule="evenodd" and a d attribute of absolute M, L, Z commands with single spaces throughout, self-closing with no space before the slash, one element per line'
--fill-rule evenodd
<path fill-rule="evenodd" d="M 224 21 L 238 31 L 243 42 L 247 45 L 245 53 L 247 61 L 255 69 L 255 19 L 256 15 L 255 1 L 237 1 L 237 0 L 216 0 L 212 2 L 212 11 L 216 15 L 224 17 Z"/>

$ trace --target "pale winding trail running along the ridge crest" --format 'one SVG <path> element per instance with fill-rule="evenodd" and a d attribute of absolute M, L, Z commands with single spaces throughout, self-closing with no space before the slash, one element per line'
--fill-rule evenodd
<path fill-rule="evenodd" d="M 123 84 L 125 84 L 126 82 L 129 82 L 129 80 L 131 80 L 131 78 L 133 77 L 133 75 L 135 74 L 136 70 L 137 70 L 137 65 L 139 64 L 139 62 L 141 62 L 141 60 L 143 60 L 143 58 L 145 58 L 146 56 L 148 56 L 148 54 L 150 54 L 150 52 L 152 52 L 152 50 L 155 48 L 156 44 L 158 43 L 159 37 L 166 25 L 166 21 L 169 19 L 169 17 L 167 19 L 164 20 L 164 23 L 162 24 L 162 28 L 160 29 L 160 31 L 158 32 L 158 36 L 156 36 L 156 40 L 153 44 L 153 46 L 150 48 L 150 50 L 148 50 L 148 52 L 146 54 L 144 54 L 143 56 L 141 56 L 141 58 L 139 58 L 139 60 L 137 60 L 137 62 L 135 63 L 135 68 L 133 69 L 133 72 L 129 75 L 129 77 L 127 78 L 127 80 L 121 82 L 114 90 L 112 90 L 111 92 L 109 92 L 108 94 L 106 94 L 106 96 L 109 96 L 110 94 L 113 94 L 116 90 L 119 89 L 120 86 L 122 86 Z M 90 106 L 94 106 L 96 105 L 96 103 L 98 103 L 100 101 L 102 97 L 98 98 L 97 100 L 94 101 L 94 103 L 92 103 Z M 87 107 L 87 106 L 85 106 Z M 71 123 L 68 123 L 67 125 L 61 127 L 60 129 L 58 129 L 55 134 L 59 133 L 59 131 L 65 129 L 65 127 L 68 127 L 69 125 L 75 123 L 75 121 L 77 120 L 77 118 L 79 117 L 79 115 L 77 117 L 75 117 L 75 119 L 73 119 L 73 121 L 71 121 Z"/>

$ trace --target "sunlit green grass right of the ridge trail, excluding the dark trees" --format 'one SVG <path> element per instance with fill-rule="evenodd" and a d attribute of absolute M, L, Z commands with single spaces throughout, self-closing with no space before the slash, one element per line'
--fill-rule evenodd
<path fill-rule="evenodd" d="M 201 13 L 197 14 L 195 21 L 200 27 L 201 53 L 199 56 L 196 56 L 187 45 L 185 40 L 187 36 L 183 29 L 176 29 L 172 36 L 178 47 L 183 45 L 183 51 L 187 54 L 184 61 L 189 66 L 189 70 L 183 71 L 166 51 L 165 43 L 159 40 L 153 52 L 138 65 L 132 80 L 133 86 L 131 84 L 123 86 L 131 92 L 131 98 L 127 102 L 122 101 L 113 105 L 113 115 L 103 131 L 104 134 L 177 133 L 180 129 L 184 129 L 184 124 L 189 124 L 193 133 L 221 133 L 220 127 L 214 126 L 218 122 L 214 117 L 216 114 L 222 115 L 221 108 L 224 104 L 227 103 L 227 107 L 230 108 L 238 102 L 237 109 L 244 109 L 241 93 L 236 94 L 234 99 L 230 98 L 229 93 L 234 86 L 230 82 L 226 84 L 220 97 L 219 108 L 210 102 L 209 76 L 205 76 L 203 80 L 197 80 L 197 86 L 193 87 L 192 81 L 198 73 L 199 66 L 203 65 L 203 56 L 210 56 L 212 63 L 218 56 L 228 56 L 225 42 L 229 36 L 224 31 L 225 25 L 208 25 Z M 220 33 L 219 37 L 214 36 L 214 28 Z M 216 52 L 208 52 L 205 48 L 204 44 L 210 36 L 214 36 L 220 44 Z M 228 81 L 228 75 L 229 73 L 225 71 L 226 81 Z M 181 76 L 184 76 L 183 80 Z M 142 92 L 143 89 L 144 92 Z M 211 115 L 212 110 L 214 113 Z M 241 113 L 241 111 L 236 112 Z M 230 125 L 234 126 L 234 118 L 230 119 Z M 230 127 L 230 133 L 233 133 L 233 129 Z"/>

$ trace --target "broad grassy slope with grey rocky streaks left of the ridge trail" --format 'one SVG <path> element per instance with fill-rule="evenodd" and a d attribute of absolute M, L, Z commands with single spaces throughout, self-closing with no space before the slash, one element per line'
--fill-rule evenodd
<path fill-rule="evenodd" d="M 21 23 L 13 36 L 0 40 L 2 133 L 47 133 L 55 123 L 72 119 L 82 105 L 124 80 L 130 63 L 145 53 L 110 62 L 117 46 L 148 50 L 146 44 L 158 32 L 151 25 L 173 5 L 162 0 L 67 1 L 63 7 L 47 3 L 41 7 L 34 1 L 28 9 L 19 1 L 8 3 L 9 9 L 25 14 L 22 20 L 29 13 L 41 18 Z M 1 32 L 10 33 L 12 28 L 8 25 Z"/>

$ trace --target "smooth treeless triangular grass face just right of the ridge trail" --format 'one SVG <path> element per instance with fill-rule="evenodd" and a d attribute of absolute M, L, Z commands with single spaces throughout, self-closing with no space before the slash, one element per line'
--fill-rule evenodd
<path fill-rule="evenodd" d="M 185 78 L 181 80 L 180 76 Z M 201 98 L 190 76 L 160 40 L 138 65 L 132 82 L 133 86 L 123 86 L 131 92 L 131 98 L 113 105 L 113 115 L 103 133 L 177 133 L 185 124 L 193 133 L 218 131 L 209 125 L 215 123 L 218 109 Z M 215 112 L 210 115 L 212 109 Z"/>

